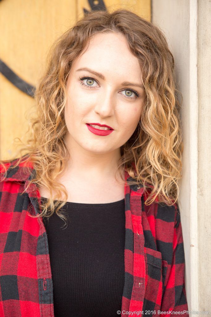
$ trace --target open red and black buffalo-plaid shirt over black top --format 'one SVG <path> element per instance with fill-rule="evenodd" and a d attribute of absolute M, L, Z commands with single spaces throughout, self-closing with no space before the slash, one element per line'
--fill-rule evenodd
<path fill-rule="evenodd" d="M 6 164 L 7 177 L 0 181 L 0 316 L 53 317 L 47 234 L 42 218 L 29 216 L 41 211 L 40 193 L 36 184 L 31 184 L 21 195 L 35 169 L 29 164 L 26 172 L 24 163 L 12 169 L 14 162 Z M 130 185 L 130 179 L 125 171 L 125 283 L 121 317 L 157 317 L 160 312 L 171 315 L 187 311 L 178 206 L 156 201 L 144 205 L 144 188 Z"/>

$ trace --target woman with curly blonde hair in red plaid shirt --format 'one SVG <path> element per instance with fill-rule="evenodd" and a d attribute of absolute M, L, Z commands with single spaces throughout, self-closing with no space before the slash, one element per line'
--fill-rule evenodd
<path fill-rule="evenodd" d="M 2 316 L 188 310 L 173 68 L 162 32 L 127 10 L 55 42 L 27 154 L 1 164 Z"/>

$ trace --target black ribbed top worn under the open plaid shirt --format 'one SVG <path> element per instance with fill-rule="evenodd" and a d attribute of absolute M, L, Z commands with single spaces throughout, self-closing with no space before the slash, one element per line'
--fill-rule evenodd
<path fill-rule="evenodd" d="M 67 202 L 62 210 L 68 217 L 66 225 L 55 213 L 43 218 L 55 317 L 119 316 L 125 275 L 125 200 Z"/>

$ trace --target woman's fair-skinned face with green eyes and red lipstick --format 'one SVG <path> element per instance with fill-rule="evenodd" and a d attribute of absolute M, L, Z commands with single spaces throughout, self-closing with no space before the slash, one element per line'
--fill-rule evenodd
<path fill-rule="evenodd" d="M 118 150 L 138 125 L 142 85 L 138 59 L 131 54 L 125 37 L 117 33 L 95 35 L 68 77 L 67 145 L 101 154 Z M 112 130 L 92 128 L 89 124 L 93 123 Z"/>

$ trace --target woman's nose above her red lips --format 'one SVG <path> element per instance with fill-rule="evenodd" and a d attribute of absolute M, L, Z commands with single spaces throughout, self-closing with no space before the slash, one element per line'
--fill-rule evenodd
<path fill-rule="evenodd" d="M 107 91 L 99 96 L 95 105 L 95 112 L 99 113 L 102 118 L 112 116 L 114 114 L 115 98 L 112 91 Z"/>

